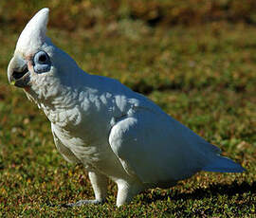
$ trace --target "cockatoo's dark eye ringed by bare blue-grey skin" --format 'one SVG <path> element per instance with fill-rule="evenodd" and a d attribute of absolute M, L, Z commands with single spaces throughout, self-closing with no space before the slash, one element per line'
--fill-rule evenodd
<path fill-rule="evenodd" d="M 33 58 L 34 71 L 44 73 L 50 70 L 50 58 L 45 51 L 38 51 Z"/>

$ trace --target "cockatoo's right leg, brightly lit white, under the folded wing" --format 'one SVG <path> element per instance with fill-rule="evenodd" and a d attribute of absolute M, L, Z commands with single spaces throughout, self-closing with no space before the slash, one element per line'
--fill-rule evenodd
<path fill-rule="evenodd" d="M 143 191 L 143 187 L 137 183 L 127 183 L 126 181 L 118 182 L 118 197 L 117 206 L 120 207 L 124 204 L 128 204 L 133 200 L 133 197 Z"/>

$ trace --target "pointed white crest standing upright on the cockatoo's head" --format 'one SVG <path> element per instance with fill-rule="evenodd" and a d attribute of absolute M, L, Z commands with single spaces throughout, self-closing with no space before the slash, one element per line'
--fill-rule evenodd
<path fill-rule="evenodd" d="M 30 55 L 46 42 L 48 14 L 49 9 L 46 8 L 39 10 L 32 17 L 18 39 L 16 51 Z"/>

